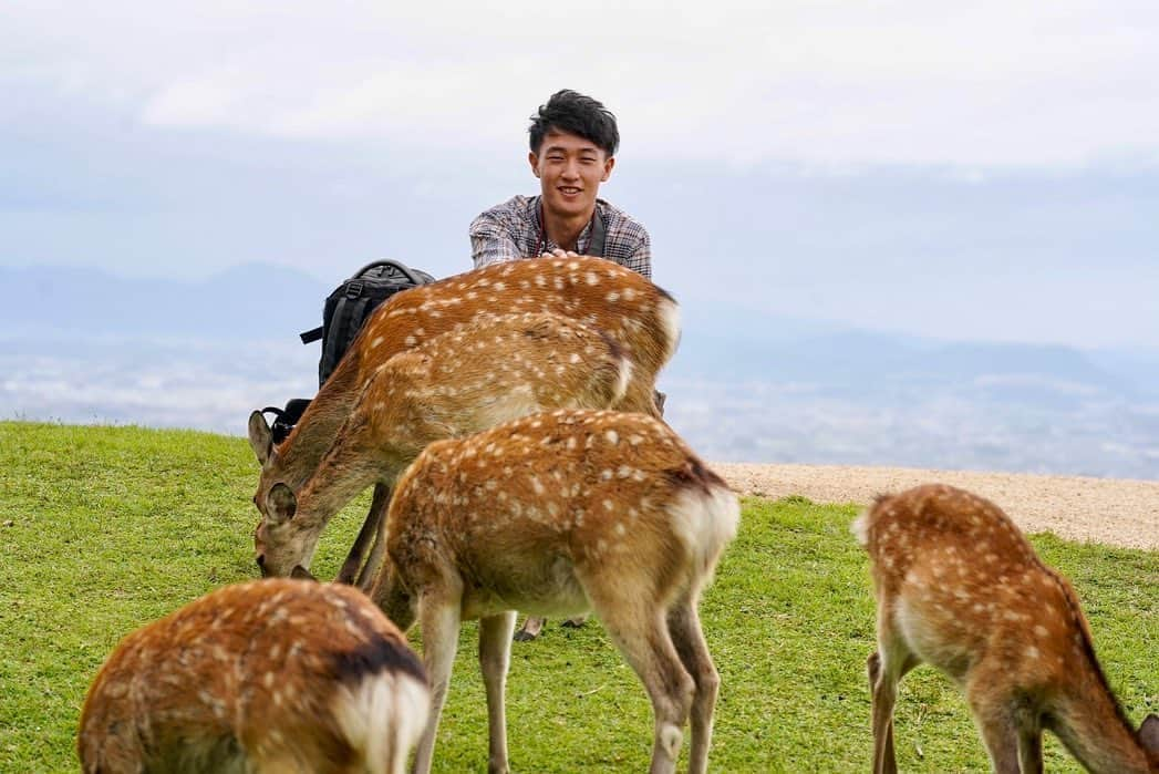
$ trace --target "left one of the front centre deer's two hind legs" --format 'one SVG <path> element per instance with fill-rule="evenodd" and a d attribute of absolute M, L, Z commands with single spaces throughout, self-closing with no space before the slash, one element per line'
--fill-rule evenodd
<path fill-rule="evenodd" d="M 610 594 L 592 596 L 592 605 L 628 665 L 635 670 L 653 702 L 656 724 L 650 774 L 672 774 L 684 742 L 684 723 L 695 684 L 685 671 L 668 633 L 663 611 L 650 600 L 630 605 Z M 603 598 L 604 604 L 599 604 Z"/>

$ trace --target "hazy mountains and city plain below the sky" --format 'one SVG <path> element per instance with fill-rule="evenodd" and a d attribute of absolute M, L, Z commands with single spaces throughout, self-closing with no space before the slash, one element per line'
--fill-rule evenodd
<path fill-rule="evenodd" d="M 330 287 L 272 265 L 204 282 L 0 269 L 3 418 L 245 432 L 313 395 L 297 333 Z M 277 299 L 277 302 L 271 302 Z M 952 342 L 686 309 L 661 387 L 717 461 L 896 465 L 1159 477 L 1153 351 Z"/>

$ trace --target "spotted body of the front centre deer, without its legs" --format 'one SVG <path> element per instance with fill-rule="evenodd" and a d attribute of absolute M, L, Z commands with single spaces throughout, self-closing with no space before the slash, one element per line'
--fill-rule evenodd
<path fill-rule="evenodd" d="M 407 621 L 399 600 L 451 576 L 475 590 L 466 615 L 563 612 L 593 575 L 625 594 L 675 594 L 706 582 L 738 514 L 728 485 L 662 422 L 537 414 L 420 454 L 391 503 L 389 562 L 372 596 Z"/>

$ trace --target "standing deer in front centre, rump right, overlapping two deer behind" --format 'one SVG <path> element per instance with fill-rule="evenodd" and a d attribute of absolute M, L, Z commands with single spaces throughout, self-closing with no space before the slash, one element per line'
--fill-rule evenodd
<path fill-rule="evenodd" d="M 293 492 L 275 489 L 289 516 Z M 432 694 L 413 771 L 430 771 L 464 620 L 479 620 L 488 771 L 506 772 L 515 611 L 590 609 L 651 699 L 650 771 L 675 772 L 691 720 L 688 768 L 706 772 L 720 676 L 698 607 L 738 521 L 724 481 L 642 414 L 559 409 L 427 446 L 398 481 L 369 590 L 402 630 L 422 626 Z"/>

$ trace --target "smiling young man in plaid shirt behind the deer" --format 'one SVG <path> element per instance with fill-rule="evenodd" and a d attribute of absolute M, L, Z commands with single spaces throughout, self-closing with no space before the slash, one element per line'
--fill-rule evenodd
<path fill-rule="evenodd" d="M 527 131 L 527 162 L 540 195 L 512 197 L 472 221 L 475 268 L 571 253 L 604 257 L 651 278 L 648 232 L 596 197 L 615 166 L 615 116 L 596 100 L 563 89 L 539 107 Z"/>

